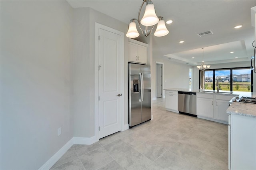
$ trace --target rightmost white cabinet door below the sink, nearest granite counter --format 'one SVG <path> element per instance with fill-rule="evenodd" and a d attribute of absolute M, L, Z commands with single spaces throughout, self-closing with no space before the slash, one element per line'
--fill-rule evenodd
<path fill-rule="evenodd" d="M 214 118 L 227 122 L 228 121 L 228 113 L 226 113 L 226 110 L 228 109 L 228 101 L 216 100 L 215 108 L 216 108 L 215 115 L 217 117 L 214 117 Z"/>

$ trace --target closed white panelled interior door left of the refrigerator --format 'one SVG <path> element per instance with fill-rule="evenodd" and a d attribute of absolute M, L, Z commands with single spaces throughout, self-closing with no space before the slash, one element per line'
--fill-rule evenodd
<path fill-rule="evenodd" d="M 121 36 L 99 30 L 99 138 L 121 130 Z"/>

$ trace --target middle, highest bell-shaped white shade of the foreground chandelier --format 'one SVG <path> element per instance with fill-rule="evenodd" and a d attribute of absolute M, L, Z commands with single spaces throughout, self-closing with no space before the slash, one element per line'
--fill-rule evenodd
<path fill-rule="evenodd" d="M 145 14 L 140 20 L 140 23 L 144 26 L 153 26 L 159 21 L 156 16 L 154 4 L 147 4 L 145 9 Z"/>

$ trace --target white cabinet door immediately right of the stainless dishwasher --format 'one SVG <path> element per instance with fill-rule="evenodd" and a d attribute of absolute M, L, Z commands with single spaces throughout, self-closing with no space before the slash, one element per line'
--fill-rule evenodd
<path fill-rule="evenodd" d="M 196 115 L 213 118 L 213 99 L 198 97 L 196 100 Z"/>

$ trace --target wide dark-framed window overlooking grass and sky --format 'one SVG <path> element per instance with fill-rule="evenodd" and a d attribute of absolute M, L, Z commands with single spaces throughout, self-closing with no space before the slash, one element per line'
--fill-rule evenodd
<path fill-rule="evenodd" d="M 200 74 L 199 72 L 199 87 Z M 252 71 L 250 67 L 228 68 L 228 69 L 211 69 L 204 71 L 204 89 L 217 90 L 218 81 L 219 89 L 224 91 L 247 91 L 252 92 Z"/>

